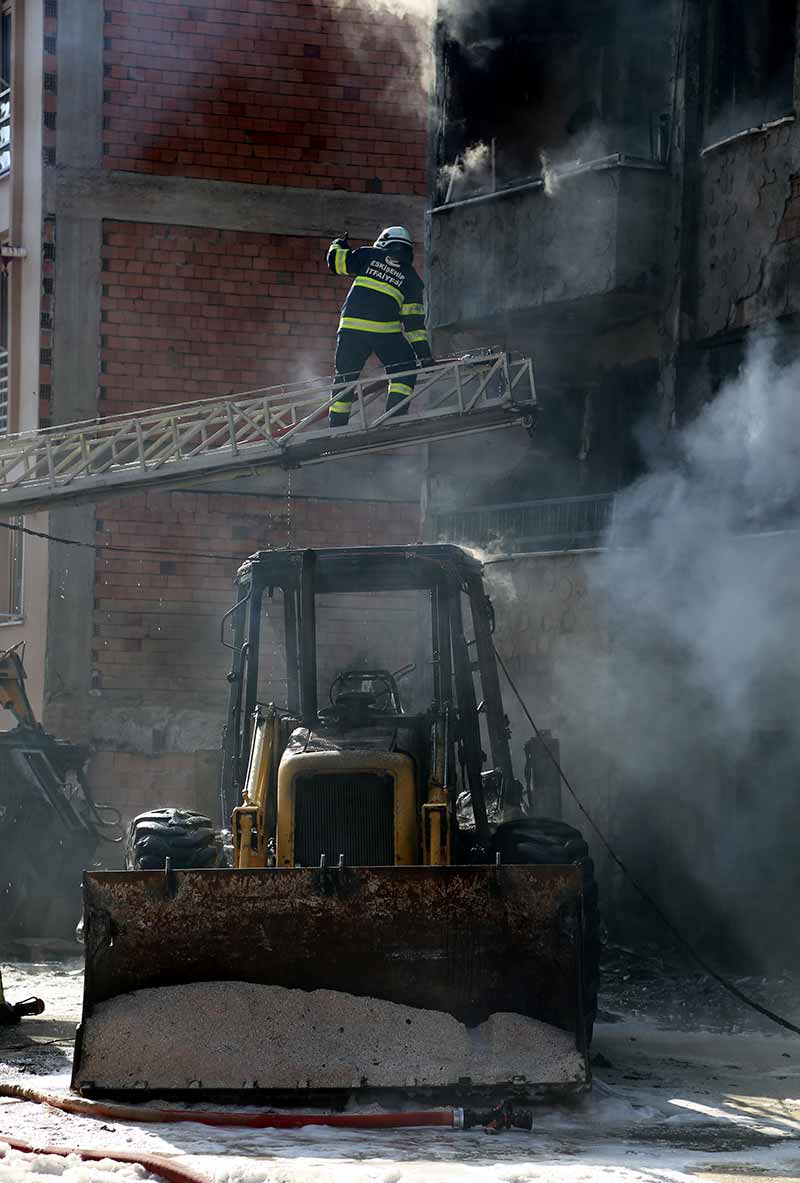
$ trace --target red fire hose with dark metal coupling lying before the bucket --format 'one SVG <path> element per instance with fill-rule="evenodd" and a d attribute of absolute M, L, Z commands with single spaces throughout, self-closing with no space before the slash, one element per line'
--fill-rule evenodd
<path fill-rule="evenodd" d="M 511 1101 L 503 1101 L 491 1110 L 443 1108 L 407 1113 L 240 1113 L 230 1110 L 159 1110 L 136 1105 L 110 1105 L 88 1101 L 79 1097 L 56 1097 L 24 1085 L 0 1085 L 0 1097 L 50 1105 L 51 1108 L 79 1117 L 163 1124 L 198 1121 L 200 1125 L 244 1126 L 250 1130 L 302 1130 L 309 1125 L 336 1126 L 342 1130 L 444 1126 L 449 1130 L 483 1127 L 488 1133 L 501 1133 L 503 1130 L 530 1130 L 534 1124 L 530 1110 L 516 1108 Z"/>

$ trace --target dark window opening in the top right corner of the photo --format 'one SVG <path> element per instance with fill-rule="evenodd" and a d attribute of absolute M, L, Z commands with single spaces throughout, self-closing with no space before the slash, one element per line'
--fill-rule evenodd
<path fill-rule="evenodd" d="M 794 110 L 796 0 L 712 0 L 705 141 Z"/>

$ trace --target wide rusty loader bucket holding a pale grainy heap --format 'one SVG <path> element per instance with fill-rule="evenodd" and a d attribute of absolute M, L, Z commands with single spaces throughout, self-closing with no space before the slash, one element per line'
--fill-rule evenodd
<path fill-rule="evenodd" d="M 568 866 L 98 872 L 72 1087 L 444 1103 L 585 1087 Z"/>

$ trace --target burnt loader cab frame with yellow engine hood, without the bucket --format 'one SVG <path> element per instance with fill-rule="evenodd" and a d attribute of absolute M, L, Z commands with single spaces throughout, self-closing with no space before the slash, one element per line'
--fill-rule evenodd
<path fill-rule="evenodd" d="M 262 551 L 237 586 L 221 801 L 236 865 L 485 860 L 484 784 L 507 812 L 521 788 L 480 564 L 456 547 Z"/>

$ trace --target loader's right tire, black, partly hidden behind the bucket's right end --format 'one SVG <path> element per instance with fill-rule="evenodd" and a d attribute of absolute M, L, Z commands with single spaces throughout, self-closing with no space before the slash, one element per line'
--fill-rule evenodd
<path fill-rule="evenodd" d="M 594 862 L 580 830 L 550 817 L 520 817 L 497 827 L 491 839 L 492 860 L 525 866 L 574 864 L 583 875 L 583 1020 L 586 1043 L 598 1014 L 600 985 L 600 909 Z"/>

